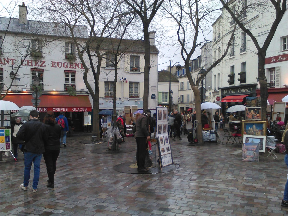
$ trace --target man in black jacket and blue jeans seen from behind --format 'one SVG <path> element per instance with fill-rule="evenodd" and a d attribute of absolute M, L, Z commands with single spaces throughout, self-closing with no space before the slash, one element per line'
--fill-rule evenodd
<path fill-rule="evenodd" d="M 16 137 L 25 141 L 24 147 L 24 181 L 20 187 L 23 190 L 27 190 L 30 170 L 32 162 L 34 164 L 34 177 L 33 177 L 33 192 L 37 192 L 37 186 L 39 182 L 40 174 L 40 161 L 44 149 L 44 139 L 48 139 L 45 125 L 38 120 L 39 113 L 36 110 L 32 110 L 30 113 L 30 120 L 22 125 L 19 129 Z"/>

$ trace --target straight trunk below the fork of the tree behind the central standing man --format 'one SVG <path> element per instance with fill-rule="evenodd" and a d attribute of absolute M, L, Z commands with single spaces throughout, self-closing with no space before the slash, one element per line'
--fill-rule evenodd
<path fill-rule="evenodd" d="M 144 68 L 144 88 L 143 88 L 143 110 L 149 107 L 149 72 L 150 72 L 150 40 L 149 25 L 143 24 L 144 42 L 145 42 L 145 68 Z"/>

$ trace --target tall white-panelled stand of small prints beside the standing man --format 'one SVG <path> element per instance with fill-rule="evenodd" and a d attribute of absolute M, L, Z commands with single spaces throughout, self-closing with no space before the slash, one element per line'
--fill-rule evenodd
<path fill-rule="evenodd" d="M 156 107 L 156 137 L 160 158 L 160 168 L 174 164 L 168 135 L 167 107 Z"/>

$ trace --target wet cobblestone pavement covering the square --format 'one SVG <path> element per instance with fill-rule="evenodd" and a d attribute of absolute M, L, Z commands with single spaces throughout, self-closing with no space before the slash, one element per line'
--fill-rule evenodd
<path fill-rule="evenodd" d="M 187 135 L 182 138 L 187 142 Z M 79 143 L 88 139 L 67 138 L 68 146 L 60 149 L 53 189 L 46 187 L 43 158 L 36 193 L 32 192 L 33 171 L 28 190 L 19 187 L 22 159 L 0 163 L 0 215 L 287 214 L 288 208 L 280 206 L 287 178 L 284 155 L 276 154 L 274 160 L 266 153 L 259 162 L 243 162 L 241 156 L 230 154 L 240 147 L 185 146 L 176 139 L 171 140 L 171 149 L 179 168 L 169 173 L 126 174 L 113 166 L 134 163 L 135 151 L 91 153 L 99 146 Z M 134 138 L 126 138 L 122 145 L 136 148 Z"/>

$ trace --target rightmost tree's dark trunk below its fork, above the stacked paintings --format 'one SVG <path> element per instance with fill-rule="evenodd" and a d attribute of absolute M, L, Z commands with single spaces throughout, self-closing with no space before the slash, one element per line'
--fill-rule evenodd
<path fill-rule="evenodd" d="M 266 110 L 267 110 L 267 98 L 268 98 L 268 85 L 267 78 L 265 75 L 265 57 L 266 52 L 258 52 L 258 77 L 260 84 L 260 101 L 262 106 L 261 119 L 266 121 Z"/>

